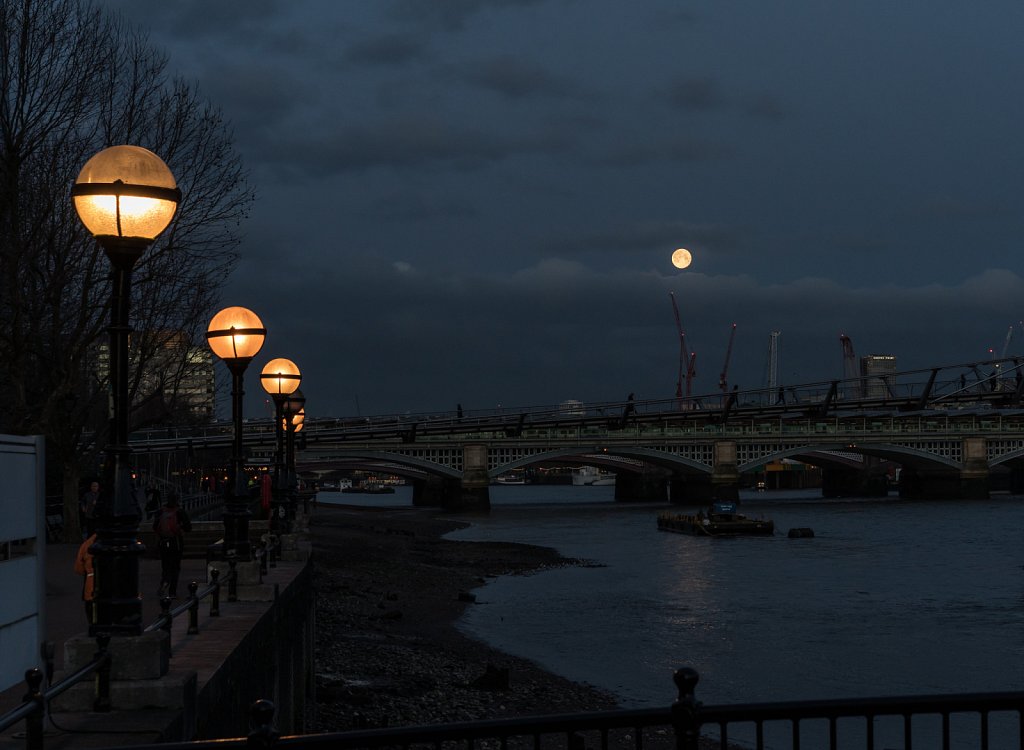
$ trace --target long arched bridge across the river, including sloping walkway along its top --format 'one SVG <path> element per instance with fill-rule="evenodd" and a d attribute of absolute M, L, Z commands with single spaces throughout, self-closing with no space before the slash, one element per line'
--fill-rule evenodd
<path fill-rule="evenodd" d="M 784 458 L 820 466 L 825 495 L 887 491 L 881 464 L 898 463 L 900 494 L 985 498 L 996 483 L 1024 488 L 1024 363 L 992 360 L 885 376 L 689 399 L 307 419 L 300 470 L 386 466 L 412 478 L 414 503 L 489 507 L 499 475 L 534 465 L 611 467 L 618 500 L 734 499 L 741 476 Z M 230 425 L 133 435 L 136 454 L 224 450 Z M 266 456 L 268 420 L 245 443 Z"/>

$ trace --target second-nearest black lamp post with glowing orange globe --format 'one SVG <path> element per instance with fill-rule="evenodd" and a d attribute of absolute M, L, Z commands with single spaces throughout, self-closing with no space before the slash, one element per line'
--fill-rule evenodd
<path fill-rule="evenodd" d="M 252 359 L 263 348 L 266 329 L 263 322 L 246 307 L 225 307 L 213 317 L 206 329 L 206 340 L 231 373 L 231 470 L 224 498 L 225 554 L 234 552 L 236 559 L 250 559 L 249 493 L 245 484 L 245 449 L 242 445 L 242 404 L 245 397 L 244 376 Z"/>

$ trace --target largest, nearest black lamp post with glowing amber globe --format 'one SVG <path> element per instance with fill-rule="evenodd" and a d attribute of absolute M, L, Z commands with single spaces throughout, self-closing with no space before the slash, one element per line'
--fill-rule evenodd
<path fill-rule="evenodd" d="M 181 192 L 163 160 L 137 145 L 115 145 L 82 167 L 71 191 L 79 218 L 113 266 L 111 286 L 111 418 L 97 510 L 93 621 L 89 635 L 139 635 L 142 597 L 138 559 L 141 516 L 128 445 L 128 339 L 135 263 L 174 217 Z"/>

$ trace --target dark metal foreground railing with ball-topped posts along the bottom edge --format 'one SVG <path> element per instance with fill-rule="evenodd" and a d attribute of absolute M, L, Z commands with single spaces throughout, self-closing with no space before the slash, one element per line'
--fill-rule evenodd
<path fill-rule="evenodd" d="M 711 748 L 1019 748 L 1024 693 L 794 701 L 705 706 L 699 677 L 675 674 L 679 697 L 665 708 L 294 735 L 274 732 L 273 705 L 252 707 L 248 737 L 135 745 L 196 748 L 407 748 L 419 750 L 709 750 Z M 122 746 L 122 750 L 131 750 Z"/>

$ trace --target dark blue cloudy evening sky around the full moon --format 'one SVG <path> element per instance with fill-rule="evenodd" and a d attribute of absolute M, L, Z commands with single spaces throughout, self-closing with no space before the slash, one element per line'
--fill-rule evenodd
<path fill-rule="evenodd" d="M 1024 5 L 104 0 L 259 194 L 225 304 L 312 416 L 987 358 L 1024 318 Z M 685 272 L 670 255 L 688 247 Z M 1024 352 L 1024 330 L 1011 353 Z"/>

